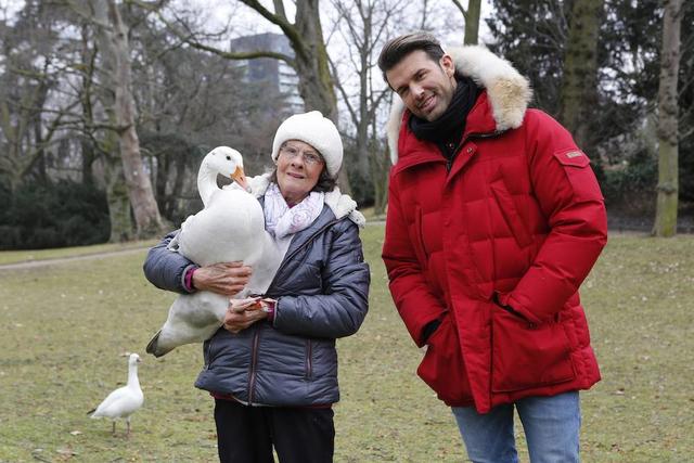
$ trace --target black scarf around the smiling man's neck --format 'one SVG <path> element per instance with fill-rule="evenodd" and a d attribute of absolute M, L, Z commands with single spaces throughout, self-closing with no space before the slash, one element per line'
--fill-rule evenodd
<path fill-rule="evenodd" d="M 454 149 L 451 150 L 450 146 L 458 147 L 465 131 L 467 114 L 477 101 L 480 90 L 468 77 L 457 75 L 455 80 L 458 86 L 451 103 L 438 119 L 429 123 L 412 115 L 409 123 L 414 137 L 436 143 L 444 156 L 449 158 L 454 155 Z"/>

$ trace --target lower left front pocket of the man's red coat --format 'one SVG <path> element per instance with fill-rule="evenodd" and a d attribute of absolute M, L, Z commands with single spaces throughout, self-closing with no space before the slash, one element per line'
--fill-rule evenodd
<path fill-rule="evenodd" d="M 444 317 L 441 324 L 432 333 L 416 373 L 446 403 L 472 403 L 467 372 L 450 313 Z"/>

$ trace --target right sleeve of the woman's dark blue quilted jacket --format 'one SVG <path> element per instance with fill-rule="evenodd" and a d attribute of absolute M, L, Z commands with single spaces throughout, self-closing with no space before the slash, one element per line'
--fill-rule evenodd
<path fill-rule="evenodd" d="M 369 310 L 371 273 L 363 260 L 358 227 L 343 220 L 331 228 L 324 257 L 324 293 L 282 296 L 273 326 L 287 334 L 336 338 L 355 334 Z"/>

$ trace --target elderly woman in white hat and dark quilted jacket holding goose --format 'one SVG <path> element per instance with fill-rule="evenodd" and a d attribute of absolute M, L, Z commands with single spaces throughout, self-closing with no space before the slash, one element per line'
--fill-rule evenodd
<path fill-rule="evenodd" d="M 232 299 L 223 326 L 204 344 L 195 386 L 215 398 L 222 462 L 330 462 L 339 399 L 335 339 L 357 332 L 368 310 L 370 273 L 358 226 L 363 216 L 335 179 L 343 144 L 319 112 L 287 118 L 272 145 L 272 173 L 249 179 L 266 229 L 284 258 L 264 295 Z M 253 269 L 197 268 L 168 250 L 169 234 L 144 270 L 158 287 L 234 295 Z M 189 268 L 181 279 L 181 270 Z"/>

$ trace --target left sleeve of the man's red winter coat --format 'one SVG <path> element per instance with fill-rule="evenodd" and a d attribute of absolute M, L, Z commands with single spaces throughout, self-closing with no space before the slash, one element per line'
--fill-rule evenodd
<path fill-rule="evenodd" d="M 426 282 L 407 230 L 397 179 L 391 177 L 382 257 L 390 281 L 390 294 L 400 318 L 414 343 L 422 347 L 425 344 L 424 327 L 434 320 L 440 320 L 446 309 Z"/>

